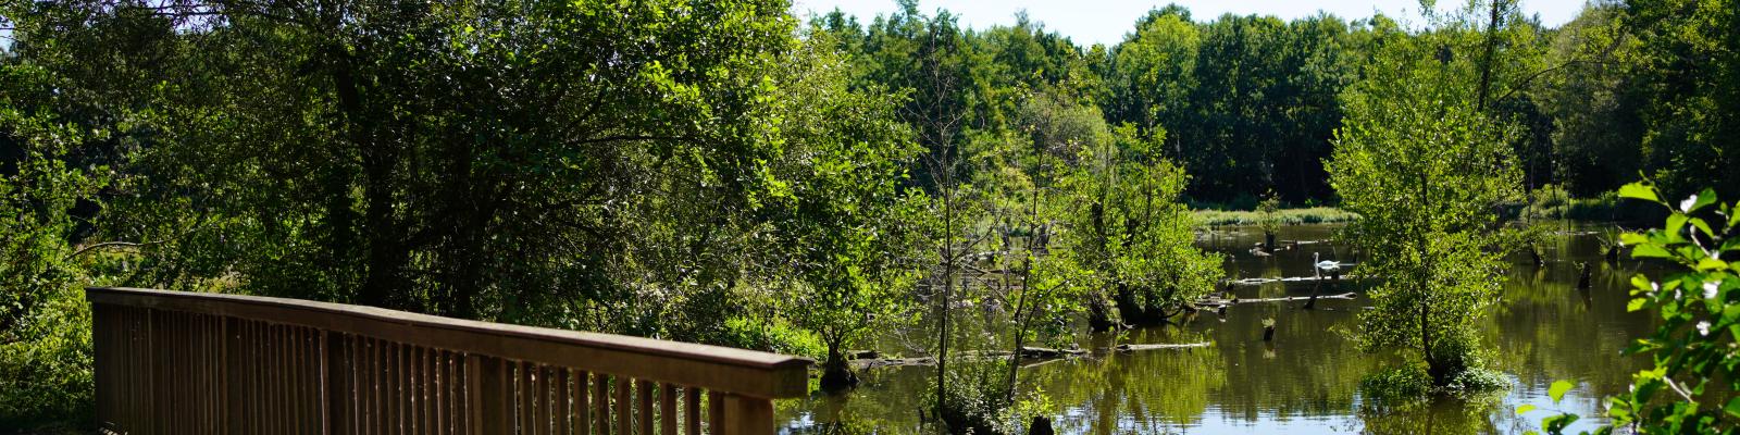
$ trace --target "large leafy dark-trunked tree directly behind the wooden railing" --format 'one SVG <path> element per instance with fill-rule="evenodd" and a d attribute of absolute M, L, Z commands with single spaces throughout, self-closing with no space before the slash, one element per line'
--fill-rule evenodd
<path fill-rule="evenodd" d="M 33 42 L 75 94 L 130 47 L 176 71 L 104 96 L 143 125 L 104 231 L 169 240 L 134 285 L 717 343 L 753 282 L 783 2 L 21 9 L 70 35 L 176 30 Z"/>

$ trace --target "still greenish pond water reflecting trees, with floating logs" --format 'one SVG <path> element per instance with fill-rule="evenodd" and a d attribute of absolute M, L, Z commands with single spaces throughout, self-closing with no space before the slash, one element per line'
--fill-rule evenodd
<path fill-rule="evenodd" d="M 1599 425 L 1601 397 L 1623 392 L 1644 358 L 1623 357 L 1632 338 L 1653 329 L 1644 313 L 1627 313 L 1629 278 L 1639 264 L 1601 261 L 1597 237 L 1611 224 L 1556 223 L 1543 245 L 1547 266 L 1516 258 L 1503 301 L 1489 310 L 1484 343 L 1495 365 L 1512 381 L 1509 392 L 1476 400 L 1439 398 L 1423 405 L 1378 405 L 1361 395 L 1361 378 L 1390 367 L 1395 355 L 1361 353 L 1347 332 L 1369 301 L 1319 299 L 1303 303 L 1249 303 L 1225 317 L 1201 313 L 1181 325 L 1145 327 L 1122 334 L 1093 334 L 1079 345 L 1091 357 L 1023 369 L 1023 385 L 1037 386 L 1056 409 L 1060 433 L 1522 433 L 1535 430 L 1550 409 L 1583 416 L 1569 432 Z M 1281 240 L 1326 240 L 1333 224 L 1282 228 Z M 1324 259 L 1357 261 L 1347 249 L 1308 244 L 1274 256 L 1256 256 L 1255 228 L 1220 228 L 1201 245 L 1227 254 L 1232 278 L 1310 277 L 1312 252 Z M 1589 263 L 1592 289 L 1578 291 L 1578 263 Z M 1650 275 L 1656 271 L 1644 270 Z M 1314 284 L 1241 285 L 1242 299 L 1310 296 Z M 1345 292 L 1352 285 L 1343 285 Z M 1275 338 L 1262 341 L 1263 318 L 1275 318 Z M 900 336 L 898 332 L 889 332 Z M 914 341 L 887 338 L 887 343 Z M 1199 343 L 1208 348 L 1105 351 L 1115 345 Z M 898 345 L 889 345 L 898 346 Z M 914 355 L 914 353 L 908 353 Z M 790 433 L 818 428 L 846 433 L 917 433 L 919 407 L 934 367 L 893 367 L 861 374 L 865 383 L 840 395 L 813 393 L 778 404 L 778 419 Z M 1554 405 L 1547 386 L 1575 379 L 1566 400 Z M 1517 416 L 1533 404 L 1542 411 Z M 835 425 L 820 425 L 835 423 Z"/>

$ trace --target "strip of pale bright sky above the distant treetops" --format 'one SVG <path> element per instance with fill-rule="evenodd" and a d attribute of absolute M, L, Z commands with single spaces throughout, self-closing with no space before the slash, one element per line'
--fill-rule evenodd
<path fill-rule="evenodd" d="M 1522 10 L 1538 16 L 1542 24 L 1559 26 L 1576 17 L 1585 0 L 1522 0 Z M 1336 14 L 1342 19 L 1369 17 L 1373 12 L 1408 19 L 1415 26 L 1420 19 L 1418 0 L 920 0 L 919 10 L 926 14 L 936 9 L 948 9 L 960 16 L 960 24 L 971 28 L 988 28 L 992 24 L 1014 23 L 1016 10 L 1027 10 L 1028 19 L 1044 23 L 1047 30 L 1070 37 L 1079 45 L 1117 44 L 1129 31 L 1136 17 L 1148 9 L 1166 3 L 1178 3 L 1190 9 L 1190 17 L 1197 21 L 1213 19 L 1221 14 L 1262 14 L 1281 19 L 1315 16 L 1319 10 Z M 1439 9 L 1460 7 L 1458 0 L 1439 0 Z M 858 16 L 861 23 L 870 23 L 877 14 L 898 9 L 894 0 L 792 0 L 792 12 L 807 17 L 809 12 L 825 14 L 839 7 Z"/>

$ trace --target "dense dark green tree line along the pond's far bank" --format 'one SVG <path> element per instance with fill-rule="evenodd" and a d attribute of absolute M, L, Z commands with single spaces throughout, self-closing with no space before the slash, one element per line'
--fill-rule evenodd
<path fill-rule="evenodd" d="M 1336 204 L 1322 160 L 1345 118 L 1342 96 L 1368 77 L 1392 35 L 1448 24 L 1329 14 L 1204 19 L 1168 5 L 1138 17 L 1122 42 L 1082 47 L 1025 14 L 1009 26 L 967 30 L 948 10 L 900 5 L 873 19 L 835 10 L 811 26 L 844 35 L 839 49 L 856 59 L 860 84 L 954 82 L 964 92 L 941 110 L 960 113 L 967 129 L 1002 129 L 1023 92 L 1053 89 L 1098 108 L 1108 125 L 1164 130 L 1162 155 L 1192 174 L 1187 197 L 1242 209 L 1268 191 L 1289 204 Z M 1505 2 L 1496 14 L 1456 17 L 1496 23 L 1496 33 L 1472 52 L 1446 56 L 1496 54 L 1479 103 L 1521 125 L 1509 146 L 1524 188 L 1597 197 L 1643 172 L 1684 190 L 1716 176 L 1731 191 L 1740 181 L 1721 169 L 1735 164 L 1733 141 L 1719 139 L 1733 129 L 1721 115 L 1733 111 L 1724 94 L 1731 82 L 1721 73 L 1730 24 L 1695 17 L 1719 7 L 1592 2 L 1549 28 Z M 1679 30 L 1696 37 L 1670 35 Z M 922 63 L 945 73 L 915 73 Z M 907 118 L 934 115 L 907 104 Z"/>

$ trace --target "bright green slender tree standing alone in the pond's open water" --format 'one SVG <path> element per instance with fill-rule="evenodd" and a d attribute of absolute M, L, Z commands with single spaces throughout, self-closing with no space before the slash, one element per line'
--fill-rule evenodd
<path fill-rule="evenodd" d="M 1434 386 L 1481 367 L 1474 325 L 1495 303 L 1507 235 L 1495 205 L 1522 195 L 1516 127 L 1481 113 L 1469 56 L 1390 35 L 1345 94 L 1329 183 L 1361 219 L 1345 231 L 1375 282 L 1366 350 L 1401 350 Z"/>

